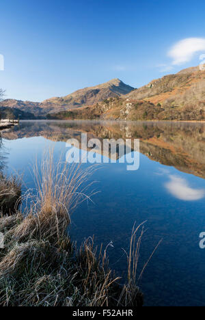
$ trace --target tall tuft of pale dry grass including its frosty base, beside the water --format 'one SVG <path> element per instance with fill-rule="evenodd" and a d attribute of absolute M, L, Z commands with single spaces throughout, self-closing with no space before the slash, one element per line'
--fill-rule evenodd
<path fill-rule="evenodd" d="M 14 231 L 18 241 L 23 239 L 49 239 L 59 241 L 64 237 L 71 222 L 73 210 L 90 196 L 86 195 L 92 185 L 88 179 L 95 168 L 82 170 L 80 165 L 68 165 L 53 159 L 53 150 L 44 154 L 42 162 L 33 167 L 37 195 L 31 206 L 25 209 L 27 217 Z M 28 214 L 29 213 L 29 214 Z"/>

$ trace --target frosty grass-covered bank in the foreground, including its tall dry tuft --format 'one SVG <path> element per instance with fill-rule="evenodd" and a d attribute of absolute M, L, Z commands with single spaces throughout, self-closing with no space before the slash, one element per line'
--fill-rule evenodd
<path fill-rule="evenodd" d="M 106 249 L 94 248 L 92 239 L 77 248 L 68 237 L 70 213 L 89 198 L 85 194 L 91 169 L 54 162 L 50 154 L 36 163 L 36 197 L 25 212 L 13 205 L 18 192 L 12 205 L 2 207 L 4 214 L 10 207 L 12 215 L 0 218 L 5 242 L 0 250 L 0 306 L 142 306 L 136 283 L 142 233 L 136 239 L 139 230 L 133 229 L 128 280 L 120 284 L 109 268 Z M 19 189 L 13 178 L 8 186 Z"/>

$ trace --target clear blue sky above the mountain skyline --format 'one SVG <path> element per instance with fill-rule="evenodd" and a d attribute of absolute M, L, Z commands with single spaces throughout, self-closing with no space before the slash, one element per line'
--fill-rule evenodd
<path fill-rule="evenodd" d="M 116 77 L 139 88 L 200 64 L 204 12 L 205 1 L 189 0 L 2 0 L 0 88 L 31 101 Z M 187 38 L 200 43 L 175 47 Z M 187 46 L 191 53 L 178 59 Z"/>

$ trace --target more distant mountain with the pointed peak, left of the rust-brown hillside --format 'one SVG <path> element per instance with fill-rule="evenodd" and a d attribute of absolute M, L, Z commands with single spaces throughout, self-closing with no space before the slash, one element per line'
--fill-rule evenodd
<path fill-rule="evenodd" d="M 107 98 L 128 94 L 132 90 L 134 90 L 133 87 L 126 85 L 120 79 L 113 79 L 94 87 L 77 90 L 72 94 L 68 94 L 68 96 L 50 98 L 42 103 L 7 99 L 0 103 L 0 107 L 17 108 L 40 118 L 45 117 L 47 114 L 53 114 L 59 111 L 79 108 L 84 105 L 94 105 Z"/>

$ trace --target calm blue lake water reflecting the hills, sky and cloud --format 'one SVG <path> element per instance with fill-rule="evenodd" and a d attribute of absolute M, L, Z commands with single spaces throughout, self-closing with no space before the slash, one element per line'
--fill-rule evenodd
<path fill-rule="evenodd" d="M 1 132 L 8 172 L 24 174 L 33 187 L 30 168 L 46 146 L 66 155 L 66 141 L 88 137 L 139 138 L 140 167 L 129 172 L 124 163 L 105 163 L 94 173 L 100 193 L 72 215 L 70 235 L 78 243 L 93 236 L 109 248 L 109 261 L 126 272 L 133 224 L 148 220 L 141 245 L 141 264 L 163 239 L 143 274 L 140 286 L 146 305 L 205 304 L 205 125 L 169 122 L 20 122 Z M 139 266 L 139 268 L 141 265 Z"/>

